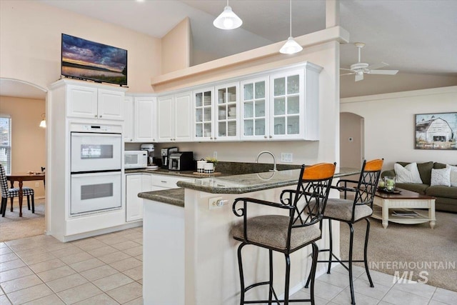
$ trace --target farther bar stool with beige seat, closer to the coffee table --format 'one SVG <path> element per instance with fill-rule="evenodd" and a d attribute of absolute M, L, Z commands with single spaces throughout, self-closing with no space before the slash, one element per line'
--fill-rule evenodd
<path fill-rule="evenodd" d="M 328 263 L 327 273 L 330 274 L 331 263 L 338 262 L 349 272 L 349 287 L 351 289 L 351 304 L 356 304 L 354 297 L 354 287 L 352 279 L 352 263 L 363 262 L 365 265 L 366 275 L 370 286 L 374 287 L 373 281 L 371 280 L 370 271 L 368 270 L 368 261 L 366 253 L 368 249 L 368 234 L 370 232 L 370 221 L 368 219 L 373 214 L 373 198 L 378 186 L 378 179 L 381 174 L 381 168 L 383 166 L 383 159 L 375 159 L 371 161 L 363 161 L 361 174 L 358 181 L 341 179 L 338 181 L 336 186 L 332 186 L 332 189 L 338 189 L 338 191 L 344 192 L 344 199 L 328 199 L 326 210 L 323 213 L 323 219 L 328 220 L 328 229 L 330 231 L 330 247 L 329 249 L 321 249 L 319 252 L 329 252 L 328 260 L 318 261 L 318 263 Z M 341 186 L 343 184 L 343 186 Z M 356 184 L 357 186 L 351 187 L 348 184 Z M 354 199 L 347 199 L 348 193 L 353 194 Z M 366 233 L 365 233 L 365 244 L 363 247 L 363 260 L 354 260 L 352 258 L 352 246 L 353 246 L 353 224 L 362 219 L 366 220 Z M 342 261 L 333 254 L 332 246 L 332 235 L 331 235 L 331 221 L 342 221 L 346 222 L 349 226 L 350 237 L 349 237 L 349 257 L 347 261 Z M 333 260 L 333 258 L 335 260 Z M 343 263 L 348 263 L 346 264 Z M 310 276 L 306 281 L 305 287 L 308 287 Z"/>

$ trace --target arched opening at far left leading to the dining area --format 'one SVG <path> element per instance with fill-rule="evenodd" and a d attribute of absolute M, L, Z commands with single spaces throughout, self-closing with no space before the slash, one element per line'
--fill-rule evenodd
<path fill-rule="evenodd" d="M 39 125 L 46 118 L 47 89 L 20 79 L 0 78 L 0 114 L 11 121 L 11 143 L 9 165 L 12 173 L 41 171 L 46 167 L 46 129 Z M 17 182 L 14 186 L 18 186 Z M 35 191 L 35 214 L 27 211 L 24 198 L 23 217 L 19 217 L 17 202 L 14 213 L 6 210 L 1 219 L 1 240 L 19 239 L 44 234 L 46 230 L 46 189 L 44 181 L 24 181 Z M 17 201 L 17 198 L 16 198 Z M 25 216 L 25 217 L 24 217 Z M 25 224 L 25 221 L 28 224 Z M 17 229 L 14 227 L 17 226 Z M 24 230 L 24 226 L 29 229 Z M 6 234 L 8 234 L 6 236 Z"/>

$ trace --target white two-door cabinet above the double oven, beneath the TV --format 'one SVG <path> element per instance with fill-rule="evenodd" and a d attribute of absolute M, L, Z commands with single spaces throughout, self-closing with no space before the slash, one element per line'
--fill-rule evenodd
<path fill-rule="evenodd" d="M 91 86 L 67 85 L 66 115 L 84 119 L 124 119 L 124 89 L 101 89 Z"/>

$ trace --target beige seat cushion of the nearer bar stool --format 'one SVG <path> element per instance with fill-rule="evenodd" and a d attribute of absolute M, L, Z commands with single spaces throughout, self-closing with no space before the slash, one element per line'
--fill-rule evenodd
<path fill-rule="evenodd" d="M 290 217 L 282 215 L 264 215 L 248 219 L 247 237 L 248 241 L 265 245 L 275 249 L 286 249 L 287 229 Z M 243 241 L 243 221 L 239 221 L 231 228 L 234 239 Z M 321 236 L 319 224 L 292 228 L 291 250 L 303 244 L 318 239 Z"/>

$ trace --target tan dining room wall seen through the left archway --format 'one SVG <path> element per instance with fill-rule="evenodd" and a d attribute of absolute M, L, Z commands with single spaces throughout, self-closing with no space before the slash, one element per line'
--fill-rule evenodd
<path fill-rule="evenodd" d="M 44 100 L 0 96 L 0 113 L 11 116 L 12 173 L 41 171 L 41 166 L 46 167 L 46 129 L 39 127 L 44 109 Z M 44 196 L 43 181 L 26 181 L 24 186 L 33 188 L 36 197 Z"/>

